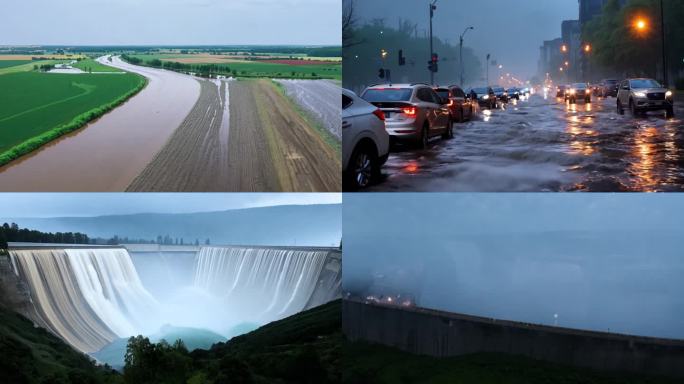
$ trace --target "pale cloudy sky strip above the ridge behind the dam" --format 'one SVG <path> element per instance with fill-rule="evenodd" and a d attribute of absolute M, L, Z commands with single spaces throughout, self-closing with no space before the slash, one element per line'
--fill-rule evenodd
<path fill-rule="evenodd" d="M 190 213 L 341 202 L 339 193 L 0 193 L 0 219 Z"/>

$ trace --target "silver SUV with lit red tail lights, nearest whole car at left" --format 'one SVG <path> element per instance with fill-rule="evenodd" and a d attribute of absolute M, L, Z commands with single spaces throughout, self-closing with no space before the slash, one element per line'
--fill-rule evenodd
<path fill-rule="evenodd" d="M 427 84 L 382 84 L 367 88 L 361 98 L 385 114 L 385 127 L 393 140 L 410 140 L 425 148 L 433 136 L 454 135 L 448 99 Z"/>

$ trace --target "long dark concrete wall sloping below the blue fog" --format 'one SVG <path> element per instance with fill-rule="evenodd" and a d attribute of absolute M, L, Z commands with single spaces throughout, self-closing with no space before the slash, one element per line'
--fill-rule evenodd
<path fill-rule="evenodd" d="M 342 327 L 368 341 L 437 356 L 480 352 L 524 355 L 604 371 L 684 377 L 684 340 L 668 340 L 502 321 L 422 308 L 344 300 Z"/>

